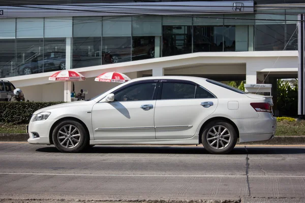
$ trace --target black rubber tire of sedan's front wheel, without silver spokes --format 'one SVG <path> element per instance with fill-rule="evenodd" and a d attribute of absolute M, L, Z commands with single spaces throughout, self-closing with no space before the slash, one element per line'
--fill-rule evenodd
<path fill-rule="evenodd" d="M 73 141 L 72 141 L 73 138 L 71 138 L 70 141 L 67 141 L 67 142 L 68 142 L 67 145 L 68 145 L 68 147 L 69 147 L 69 148 L 67 148 L 67 147 L 64 147 L 64 146 L 60 145 L 60 143 L 59 143 L 59 138 L 58 138 L 58 137 L 59 137 L 58 134 L 62 135 L 62 133 L 59 133 L 59 130 L 62 130 L 62 128 L 64 128 L 65 126 L 70 126 L 70 125 L 72 125 L 72 126 L 74 126 L 74 127 L 77 128 L 77 130 L 79 131 L 80 136 L 79 136 L 79 142 L 78 142 L 77 145 L 75 145 L 75 147 L 73 147 L 73 146 L 69 147 L 69 146 L 70 146 L 69 142 L 73 142 Z M 72 127 L 71 131 L 73 131 L 73 130 L 74 130 L 74 128 Z M 69 133 L 68 133 L 68 134 L 69 134 Z M 61 137 L 61 136 L 60 136 L 60 137 Z M 63 135 L 62 137 L 64 137 L 64 135 Z M 62 138 L 62 139 L 64 139 L 64 138 Z M 76 139 L 78 139 L 78 137 L 76 137 Z M 82 124 L 80 124 L 79 122 L 73 121 L 73 120 L 70 120 L 70 121 L 63 121 L 63 122 L 59 123 L 59 124 L 54 128 L 54 130 L 53 130 L 53 132 L 52 132 L 52 140 L 53 140 L 53 143 L 54 143 L 55 147 L 56 147 L 60 152 L 70 152 L 70 153 L 77 153 L 77 152 L 80 152 L 80 151 L 84 150 L 84 149 L 88 146 L 88 143 L 89 143 L 89 140 L 88 140 L 88 139 L 89 139 L 89 135 L 87 134 L 87 132 L 86 132 L 84 126 L 83 126 Z M 67 142 L 66 142 L 66 143 L 67 143 Z M 64 144 L 66 145 L 66 143 L 64 143 Z M 74 142 L 74 144 L 76 144 L 76 143 Z M 71 144 L 71 145 L 72 145 L 72 144 Z"/>

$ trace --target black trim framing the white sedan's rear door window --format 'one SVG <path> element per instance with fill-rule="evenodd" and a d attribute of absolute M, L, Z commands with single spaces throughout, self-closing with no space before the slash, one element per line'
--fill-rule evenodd
<path fill-rule="evenodd" d="M 190 84 L 190 85 L 195 85 L 195 95 L 194 98 L 174 98 L 174 99 L 161 99 L 161 94 L 162 94 L 162 87 L 163 87 L 163 82 L 169 82 L 169 83 L 185 83 L 185 84 Z M 205 99 L 205 98 L 196 98 L 196 91 L 197 91 L 197 86 L 203 88 L 205 91 L 209 92 L 211 95 L 214 96 L 214 98 L 217 98 L 217 96 L 215 94 L 213 94 L 212 92 L 210 92 L 209 90 L 207 90 L 206 88 L 202 87 L 201 85 L 190 81 L 190 80 L 180 80 L 180 79 L 163 79 L 160 80 L 160 86 L 158 89 L 158 96 L 157 96 L 157 100 L 177 100 L 177 99 Z"/>

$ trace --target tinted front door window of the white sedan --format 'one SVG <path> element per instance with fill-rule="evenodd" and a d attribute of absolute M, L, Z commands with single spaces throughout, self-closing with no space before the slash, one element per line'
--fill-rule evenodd
<path fill-rule="evenodd" d="M 114 93 L 114 101 L 152 100 L 157 82 L 140 83 Z"/>

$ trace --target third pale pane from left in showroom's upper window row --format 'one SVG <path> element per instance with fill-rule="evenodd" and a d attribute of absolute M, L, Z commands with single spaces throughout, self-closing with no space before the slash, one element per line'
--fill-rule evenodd
<path fill-rule="evenodd" d="M 45 18 L 45 37 L 72 37 L 72 17 Z"/>

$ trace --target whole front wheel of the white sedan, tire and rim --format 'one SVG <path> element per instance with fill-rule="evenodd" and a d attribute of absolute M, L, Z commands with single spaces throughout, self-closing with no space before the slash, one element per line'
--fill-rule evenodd
<path fill-rule="evenodd" d="M 61 152 L 80 152 L 87 146 L 88 134 L 79 122 L 63 121 L 53 130 L 52 140 Z"/>

